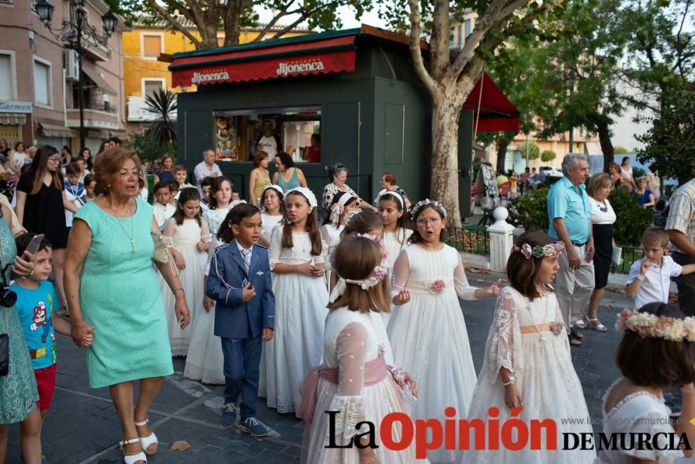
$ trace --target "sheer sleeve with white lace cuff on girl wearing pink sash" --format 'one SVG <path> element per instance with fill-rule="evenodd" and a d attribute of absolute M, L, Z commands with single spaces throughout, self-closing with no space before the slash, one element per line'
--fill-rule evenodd
<path fill-rule="evenodd" d="M 364 394 L 364 362 L 367 329 L 358 322 L 347 324 L 338 334 L 338 392 L 331 401 L 329 410 L 336 415 L 336 435 L 343 434 L 350 440 L 360 433 L 359 422 L 373 421 Z M 366 429 L 364 430 L 366 431 Z"/>

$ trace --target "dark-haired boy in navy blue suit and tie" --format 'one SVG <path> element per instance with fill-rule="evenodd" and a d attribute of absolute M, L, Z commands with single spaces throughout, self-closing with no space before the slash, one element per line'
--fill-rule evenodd
<path fill-rule="evenodd" d="M 232 208 L 220 227 L 220 239 L 229 245 L 215 250 L 206 294 L 217 302 L 215 335 L 222 338 L 224 354 L 224 406 L 222 423 L 236 423 L 236 400 L 241 395 L 239 428 L 254 437 L 268 435 L 256 419 L 261 346 L 272 339 L 275 295 L 270 282 L 268 250 L 261 237 L 261 211 L 241 203 Z"/>

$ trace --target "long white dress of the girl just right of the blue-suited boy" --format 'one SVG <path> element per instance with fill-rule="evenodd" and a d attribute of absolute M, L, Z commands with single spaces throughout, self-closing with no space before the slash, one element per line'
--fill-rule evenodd
<path fill-rule="evenodd" d="M 308 232 L 292 233 L 292 248 L 282 246 L 282 227 L 270 236 L 270 269 L 278 263 L 304 264 L 313 260 L 325 264 L 325 257 L 311 255 Z M 322 250 L 326 244 L 322 243 Z M 291 413 L 300 402 L 300 385 L 312 367 L 321 362 L 323 329 L 328 314 L 328 289 L 321 277 L 300 273 L 272 274 L 275 294 L 275 333 L 263 344 L 259 396 L 269 408 Z"/>

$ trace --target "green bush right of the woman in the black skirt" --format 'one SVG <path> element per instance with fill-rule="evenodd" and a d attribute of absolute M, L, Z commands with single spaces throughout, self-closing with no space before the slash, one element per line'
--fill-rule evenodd
<path fill-rule="evenodd" d="M 635 195 L 623 189 L 612 191 L 608 201 L 617 216 L 613 225 L 615 243 L 639 246 L 644 230 L 654 221 L 653 211 L 637 205 Z"/>

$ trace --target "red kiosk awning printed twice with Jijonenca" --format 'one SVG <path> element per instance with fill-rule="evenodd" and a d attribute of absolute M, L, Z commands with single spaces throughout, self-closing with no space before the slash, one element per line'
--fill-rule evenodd
<path fill-rule="evenodd" d="M 217 51 L 176 54 L 169 67 L 172 85 L 257 81 L 354 71 L 356 34 L 310 40 L 284 39 L 263 45 L 235 45 Z M 299 38 L 297 38 L 299 39 Z M 309 40 L 307 40 L 309 39 Z M 261 42 L 263 43 L 263 42 Z"/>

